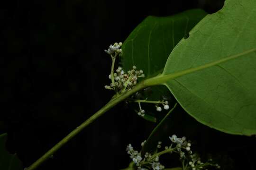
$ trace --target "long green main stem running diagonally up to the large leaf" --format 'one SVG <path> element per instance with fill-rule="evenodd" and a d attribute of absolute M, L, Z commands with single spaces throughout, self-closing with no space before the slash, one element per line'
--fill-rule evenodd
<path fill-rule="evenodd" d="M 113 69 L 111 69 L 111 70 L 113 70 Z M 113 76 L 111 75 L 111 78 L 112 77 Z M 158 76 L 156 76 L 156 77 L 158 77 Z M 133 89 L 131 89 L 125 93 L 122 93 L 121 95 L 118 95 L 115 98 L 112 98 L 110 100 L 110 102 L 108 102 L 105 106 L 103 106 L 100 110 L 98 110 L 95 114 L 93 114 L 89 119 L 84 121 L 79 127 L 76 127 L 72 132 L 70 132 L 70 134 L 68 134 L 60 142 L 55 144 L 55 146 L 53 148 L 51 148 L 49 151 L 47 151 L 41 158 L 39 158 L 37 161 L 35 161 L 26 170 L 35 170 L 44 161 L 49 159 L 51 157 L 51 155 L 53 155 L 56 151 L 58 151 L 64 144 L 66 144 L 69 140 L 71 140 L 74 136 L 76 136 L 79 132 L 81 132 L 82 129 L 84 129 L 85 127 L 90 125 L 95 119 L 99 118 L 103 113 L 110 110 L 112 107 L 117 105 L 119 102 L 122 102 L 123 100 L 128 98 L 128 96 L 130 96 L 131 94 L 133 94 L 143 88 L 146 88 L 147 86 L 157 85 L 155 83 L 156 77 L 152 77 L 152 78 L 147 79 L 146 81 L 142 81 L 141 83 L 137 84 Z"/>

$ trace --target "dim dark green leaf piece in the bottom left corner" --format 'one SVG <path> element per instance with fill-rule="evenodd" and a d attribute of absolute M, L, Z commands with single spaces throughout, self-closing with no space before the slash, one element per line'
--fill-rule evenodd
<path fill-rule="evenodd" d="M 10 154 L 5 150 L 7 134 L 0 135 L 0 170 L 23 170 L 22 162 L 16 154 Z"/>

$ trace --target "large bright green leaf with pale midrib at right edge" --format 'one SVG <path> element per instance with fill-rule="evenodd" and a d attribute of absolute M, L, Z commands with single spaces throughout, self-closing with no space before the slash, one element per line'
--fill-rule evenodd
<path fill-rule="evenodd" d="M 255 7 L 226 0 L 178 43 L 162 77 L 192 117 L 230 134 L 256 134 Z"/>

